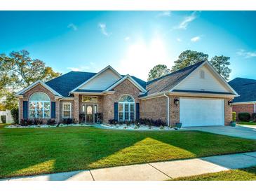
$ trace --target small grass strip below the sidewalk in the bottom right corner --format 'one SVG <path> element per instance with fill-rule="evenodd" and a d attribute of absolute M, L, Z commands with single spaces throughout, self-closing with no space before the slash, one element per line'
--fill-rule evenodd
<path fill-rule="evenodd" d="M 180 177 L 173 181 L 255 181 L 256 167 Z"/>

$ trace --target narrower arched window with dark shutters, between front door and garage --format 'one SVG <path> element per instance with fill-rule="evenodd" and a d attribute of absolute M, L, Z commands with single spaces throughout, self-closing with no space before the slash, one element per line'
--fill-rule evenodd
<path fill-rule="evenodd" d="M 132 96 L 123 95 L 119 100 L 119 121 L 134 121 L 135 102 Z"/>

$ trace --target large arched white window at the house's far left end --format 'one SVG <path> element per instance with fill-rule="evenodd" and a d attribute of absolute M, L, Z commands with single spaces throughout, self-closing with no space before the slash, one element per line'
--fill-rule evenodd
<path fill-rule="evenodd" d="M 50 118 L 50 98 L 43 92 L 35 92 L 29 98 L 29 118 Z"/>

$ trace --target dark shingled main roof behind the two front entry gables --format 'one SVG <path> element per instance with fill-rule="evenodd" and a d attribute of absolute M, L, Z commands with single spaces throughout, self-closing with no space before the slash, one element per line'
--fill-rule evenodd
<path fill-rule="evenodd" d="M 53 88 L 53 90 L 60 93 L 64 97 L 69 96 L 69 92 L 74 88 L 81 85 L 83 82 L 87 81 L 89 78 L 93 77 L 97 73 L 80 72 L 80 71 L 70 71 L 67 74 L 53 78 L 52 80 L 46 82 L 46 85 Z M 146 88 L 146 82 L 142 81 L 140 78 L 132 76 L 133 79 L 139 83 L 143 88 Z M 76 90 L 79 92 L 95 92 L 95 90 Z M 97 92 L 102 92 L 103 90 L 96 90 Z"/>

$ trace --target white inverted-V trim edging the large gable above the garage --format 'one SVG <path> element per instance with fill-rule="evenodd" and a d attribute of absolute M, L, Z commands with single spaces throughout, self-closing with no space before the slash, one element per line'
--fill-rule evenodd
<path fill-rule="evenodd" d="M 196 73 L 196 71 L 200 70 L 201 67 L 203 67 L 204 65 L 207 65 L 210 69 L 210 72 L 212 72 L 213 74 L 215 74 L 215 76 L 217 76 L 217 79 L 220 80 L 222 83 L 224 83 L 224 85 L 227 86 L 227 88 L 229 88 L 229 90 L 231 90 L 231 93 L 233 93 L 234 95 L 236 95 L 235 97 L 238 96 L 238 93 L 231 88 L 231 86 L 229 85 L 229 83 L 227 83 L 227 81 L 224 80 L 224 78 L 217 73 L 217 71 L 213 68 L 213 66 L 206 60 L 205 62 L 203 62 L 199 67 L 197 67 L 194 71 L 191 72 L 191 74 Z M 180 83 L 182 83 L 185 79 L 189 78 L 189 76 L 191 76 L 191 74 L 189 74 L 187 77 L 185 77 L 182 81 L 180 81 L 179 83 L 177 83 L 177 85 L 175 85 L 170 92 L 173 92 L 173 90 L 175 90 L 177 88 L 178 85 L 180 85 Z"/>

